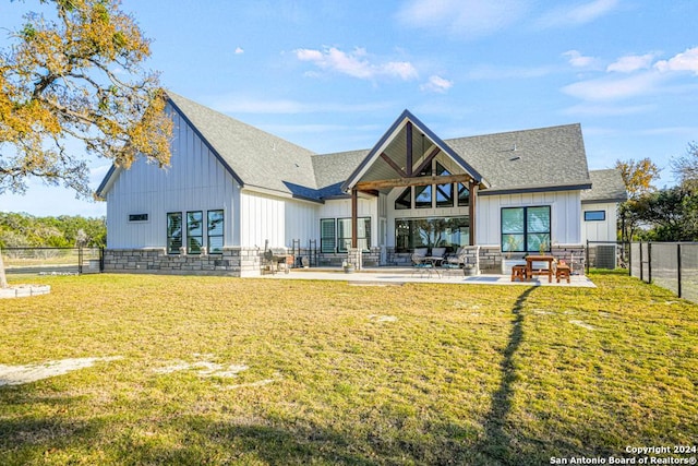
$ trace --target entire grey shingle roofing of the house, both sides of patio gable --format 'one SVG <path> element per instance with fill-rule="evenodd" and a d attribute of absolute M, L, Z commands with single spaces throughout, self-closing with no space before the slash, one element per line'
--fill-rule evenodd
<path fill-rule="evenodd" d="M 168 92 L 172 106 L 245 187 L 257 187 L 314 201 L 344 195 L 341 186 L 371 150 L 318 155 L 185 97 Z M 581 128 L 567 124 L 443 141 L 488 180 L 481 194 L 532 190 L 588 189 Z M 604 170 L 607 171 L 607 170 Z M 103 191 L 119 170 L 110 170 Z M 115 175 L 116 174 L 116 175 Z M 597 186 L 599 184 L 599 186 Z M 600 175 L 589 201 L 624 194 L 611 174 Z"/>

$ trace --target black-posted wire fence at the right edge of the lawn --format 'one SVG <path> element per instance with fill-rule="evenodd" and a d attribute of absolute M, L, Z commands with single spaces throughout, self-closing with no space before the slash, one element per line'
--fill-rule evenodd
<path fill-rule="evenodd" d="M 634 242 L 630 275 L 698 302 L 698 242 Z"/>

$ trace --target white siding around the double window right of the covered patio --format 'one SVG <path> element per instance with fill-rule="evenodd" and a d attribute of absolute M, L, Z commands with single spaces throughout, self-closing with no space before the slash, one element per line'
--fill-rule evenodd
<path fill-rule="evenodd" d="M 502 208 L 551 207 L 551 242 L 553 246 L 579 246 L 581 241 L 579 191 L 554 191 L 504 195 L 480 195 L 476 204 L 477 244 L 500 247 Z"/>

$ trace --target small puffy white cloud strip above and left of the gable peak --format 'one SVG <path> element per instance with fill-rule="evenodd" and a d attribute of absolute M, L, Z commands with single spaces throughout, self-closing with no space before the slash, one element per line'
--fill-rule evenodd
<path fill-rule="evenodd" d="M 360 80 L 378 76 L 399 77 L 404 81 L 417 79 L 419 73 L 409 61 L 372 62 L 364 48 L 345 52 L 336 47 L 324 50 L 297 49 L 296 57 L 315 64 L 321 70 L 347 74 Z"/>

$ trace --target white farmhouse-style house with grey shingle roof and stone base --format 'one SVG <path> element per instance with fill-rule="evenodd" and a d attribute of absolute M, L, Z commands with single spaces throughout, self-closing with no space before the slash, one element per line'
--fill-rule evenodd
<path fill-rule="evenodd" d="M 615 240 L 625 200 L 615 170 L 588 170 L 579 124 L 442 140 L 406 110 L 371 150 L 321 155 L 174 93 L 167 111 L 170 166 L 115 166 L 97 190 L 108 271 L 248 276 L 266 248 L 380 265 L 461 246 L 496 267 Z"/>

